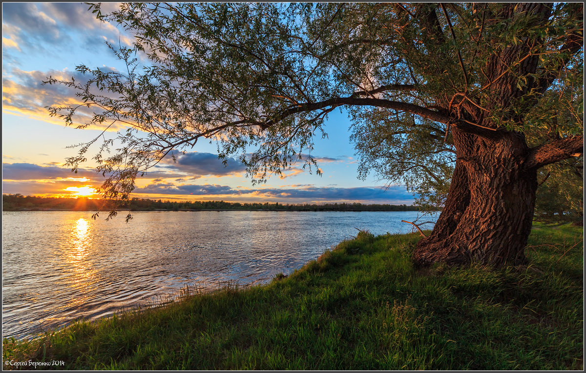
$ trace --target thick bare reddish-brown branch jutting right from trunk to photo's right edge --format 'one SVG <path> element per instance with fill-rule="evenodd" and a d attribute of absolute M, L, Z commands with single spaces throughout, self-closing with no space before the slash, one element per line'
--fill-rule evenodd
<path fill-rule="evenodd" d="M 539 168 L 584 153 L 584 136 L 571 136 L 532 148 L 525 161 L 527 168 Z"/>

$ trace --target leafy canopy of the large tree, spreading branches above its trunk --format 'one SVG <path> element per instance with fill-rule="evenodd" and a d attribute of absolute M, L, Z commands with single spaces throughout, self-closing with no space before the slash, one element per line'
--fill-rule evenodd
<path fill-rule="evenodd" d="M 96 108 L 81 126 L 128 125 L 118 137 L 121 151 L 95 158 L 98 169 L 111 175 L 103 188 L 107 197 L 126 196 L 134 174 L 202 138 L 218 140 L 222 158 L 239 153 L 253 180 L 280 174 L 298 158 L 315 166 L 304 150 L 311 150 L 313 136 L 325 135 L 327 114 L 345 105 L 356 121 L 361 173 L 374 167 L 393 181 L 426 180 L 423 189 L 442 188 L 439 178 L 422 179 L 423 174 L 450 173 L 445 165 L 453 159 L 441 151 L 453 153 L 449 123 L 485 135 L 500 129 L 564 138 L 582 132 L 582 59 L 574 53 L 581 48 L 574 40 L 579 4 L 554 5 L 546 27 L 532 25 L 530 16 L 502 19 L 505 9 L 499 4 L 442 5 L 440 15 L 434 8 L 130 3 L 102 14 L 94 4 L 90 9 L 98 18 L 135 35 L 132 46 L 111 46 L 128 71 L 82 65 L 77 70 L 87 81 L 47 81 L 76 88 L 81 100 Z M 429 27 L 421 27 L 422 19 Z M 513 65 L 538 56 L 534 73 L 515 74 L 516 66 L 510 66 L 508 74 L 486 76 L 488 64 L 499 64 L 499 53 L 523 43 L 530 45 Z M 146 53 L 149 63 L 142 66 L 137 52 Z M 495 105 L 491 87 L 505 78 L 515 80 L 519 92 Z M 539 81 L 539 87 L 528 90 L 530 81 Z M 449 107 L 438 107 L 438 98 Z M 71 124 L 77 108 L 50 111 Z M 457 117 L 463 109 L 472 120 Z M 563 113 L 556 124 L 554 111 Z M 476 124 L 486 117 L 495 119 L 496 131 Z M 381 134 L 383 128 L 393 131 Z M 387 136 L 390 143 L 381 145 L 391 152 L 373 149 L 380 136 Z M 410 143 L 422 138 L 426 143 Z M 103 149 L 112 144 L 104 141 Z M 82 146 L 69 164 L 85 160 L 86 149 Z M 413 179 L 406 176 L 410 172 Z"/>

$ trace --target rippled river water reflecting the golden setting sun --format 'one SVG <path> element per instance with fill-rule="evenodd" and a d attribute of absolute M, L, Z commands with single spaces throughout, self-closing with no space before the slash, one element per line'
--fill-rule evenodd
<path fill-rule="evenodd" d="M 2 213 L 2 335 L 30 337 L 83 317 L 162 300 L 187 285 L 265 283 L 357 234 L 411 232 L 416 211 Z M 435 221 L 437 216 L 423 220 Z M 431 228 L 431 225 L 428 226 Z"/>

